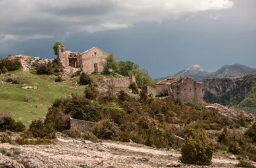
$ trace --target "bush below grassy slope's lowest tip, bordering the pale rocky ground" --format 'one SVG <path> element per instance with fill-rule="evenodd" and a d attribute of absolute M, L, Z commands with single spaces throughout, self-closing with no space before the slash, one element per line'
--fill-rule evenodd
<path fill-rule="evenodd" d="M 28 128 L 34 138 L 55 138 L 55 130 L 50 124 L 44 125 L 42 120 L 33 120 Z"/>

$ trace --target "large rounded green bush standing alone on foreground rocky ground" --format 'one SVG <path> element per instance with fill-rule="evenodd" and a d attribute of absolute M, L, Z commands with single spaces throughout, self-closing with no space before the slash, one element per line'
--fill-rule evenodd
<path fill-rule="evenodd" d="M 189 130 L 181 149 L 181 162 L 193 165 L 210 165 L 214 147 L 207 138 L 205 130 Z"/>

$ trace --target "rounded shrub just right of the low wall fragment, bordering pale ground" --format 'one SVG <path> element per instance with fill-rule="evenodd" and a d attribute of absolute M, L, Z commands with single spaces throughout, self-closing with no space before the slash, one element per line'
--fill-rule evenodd
<path fill-rule="evenodd" d="M 94 134 L 98 138 L 118 140 L 121 134 L 117 124 L 110 120 L 102 120 L 94 126 Z"/>

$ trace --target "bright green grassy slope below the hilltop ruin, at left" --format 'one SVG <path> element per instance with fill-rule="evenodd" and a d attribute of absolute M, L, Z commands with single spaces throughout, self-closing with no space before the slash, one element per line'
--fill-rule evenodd
<path fill-rule="evenodd" d="M 77 85 L 75 79 L 56 83 L 55 75 L 34 75 L 28 71 L 9 74 L 11 76 L 0 75 L 0 112 L 7 110 L 15 120 L 20 120 L 26 126 L 31 120 L 44 117 L 54 99 L 84 91 L 84 87 Z M 8 78 L 24 84 L 6 83 Z M 22 89 L 25 86 L 36 86 L 37 89 Z"/>

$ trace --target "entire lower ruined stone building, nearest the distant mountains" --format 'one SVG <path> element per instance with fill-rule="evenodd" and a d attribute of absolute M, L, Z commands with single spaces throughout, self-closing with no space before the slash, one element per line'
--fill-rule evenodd
<path fill-rule="evenodd" d="M 156 95 L 170 96 L 183 103 L 202 104 L 202 83 L 191 77 L 168 78 L 156 84 Z"/>

